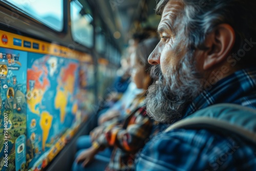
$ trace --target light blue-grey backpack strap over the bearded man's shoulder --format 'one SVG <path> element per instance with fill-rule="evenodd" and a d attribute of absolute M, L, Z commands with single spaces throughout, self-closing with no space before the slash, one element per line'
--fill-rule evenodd
<path fill-rule="evenodd" d="M 165 132 L 174 129 L 207 129 L 256 143 L 256 110 L 238 104 L 215 104 L 175 122 Z"/>

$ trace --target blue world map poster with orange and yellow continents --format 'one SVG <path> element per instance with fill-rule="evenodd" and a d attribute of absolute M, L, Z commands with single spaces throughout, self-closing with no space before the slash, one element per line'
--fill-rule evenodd
<path fill-rule="evenodd" d="M 71 127 L 78 110 L 79 61 L 28 53 L 27 160 L 45 157 Z"/>

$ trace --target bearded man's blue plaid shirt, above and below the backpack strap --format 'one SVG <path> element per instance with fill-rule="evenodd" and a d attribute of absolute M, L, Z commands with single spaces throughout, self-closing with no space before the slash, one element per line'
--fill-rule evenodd
<path fill-rule="evenodd" d="M 237 71 L 202 92 L 189 104 L 183 118 L 217 103 L 235 103 L 255 109 L 256 69 Z M 176 129 L 159 133 L 147 143 L 136 164 L 138 171 L 256 170 L 256 146 L 234 135 L 223 136 L 203 129 Z"/>

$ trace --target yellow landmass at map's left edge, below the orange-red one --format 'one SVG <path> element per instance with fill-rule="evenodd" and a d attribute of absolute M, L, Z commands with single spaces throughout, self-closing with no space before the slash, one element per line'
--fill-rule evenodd
<path fill-rule="evenodd" d="M 31 91 L 30 94 L 28 94 L 28 96 L 30 96 L 30 99 L 28 98 L 28 106 L 30 108 L 30 111 L 34 114 L 40 115 L 39 109 L 36 109 L 36 105 L 40 104 L 41 100 L 42 100 L 42 90 L 37 90 L 34 89 L 33 91 Z"/>

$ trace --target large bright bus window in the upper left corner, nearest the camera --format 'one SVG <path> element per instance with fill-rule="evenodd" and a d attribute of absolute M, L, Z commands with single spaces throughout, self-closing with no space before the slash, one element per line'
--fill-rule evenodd
<path fill-rule="evenodd" d="M 39 22 L 61 32 L 63 30 L 62 0 L 6 0 L 20 11 L 35 18 Z"/>

